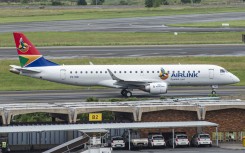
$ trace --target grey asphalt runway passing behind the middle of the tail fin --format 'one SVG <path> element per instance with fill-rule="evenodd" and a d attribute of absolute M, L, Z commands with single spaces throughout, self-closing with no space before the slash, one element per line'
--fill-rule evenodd
<path fill-rule="evenodd" d="M 245 45 L 163 45 L 119 47 L 40 47 L 46 58 L 244 56 Z M 15 48 L 0 48 L 0 59 L 17 59 Z"/>

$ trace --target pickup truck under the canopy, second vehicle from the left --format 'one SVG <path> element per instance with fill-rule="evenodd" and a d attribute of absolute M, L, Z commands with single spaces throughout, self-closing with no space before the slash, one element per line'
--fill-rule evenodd
<path fill-rule="evenodd" d="M 131 131 L 130 132 L 130 140 L 129 140 L 129 133 L 125 131 L 123 134 L 123 139 L 128 146 L 130 141 L 131 148 L 138 148 L 138 147 L 147 147 L 148 146 L 148 139 L 147 138 L 140 138 L 140 133 L 138 131 Z"/>

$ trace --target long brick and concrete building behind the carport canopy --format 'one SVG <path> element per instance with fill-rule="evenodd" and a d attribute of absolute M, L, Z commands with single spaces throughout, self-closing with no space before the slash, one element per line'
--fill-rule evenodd
<path fill-rule="evenodd" d="M 45 112 L 53 116 L 53 121 L 64 120 L 67 124 L 85 123 L 78 116 L 89 113 L 113 112 L 114 117 L 106 122 L 145 123 L 145 122 L 183 122 L 208 121 L 215 126 L 177 127 L 178 133 L 186 133 L 189 139 L 200 132 L 209 133 L 213 141 L 241 141 L 245 136 L 245 101 L 241 100 L 209 100 L 209 99 L 169 99 L 137 102 L 78 102 L 54 104 L 1 104 L 1 123 L 3 127 L 13 127 L 12 118 L 16 115 Z M 55 119 L 56 118 L 56 119 Z M 55 122 L 57 124 L 58 122 Z M 88 123 L 88 122 L 86 122 Z M 51 124 L 51 123 L 50 123 Z M 54 123 L 53 123 L 54 124 Z M 100 122 L 97 124 L 100 124 Z M 21 126 L 19 126 L 21 127 Z M 129 127 L 111 129 L 109 136 L 122 135 Z M 141 137 L 150 133 L 168 135 L 171 127 L 139 128 Z M 0 131 L 1 132 L 1 131 Z M 8 133 L 9 145 L 15 147 L 34 146 L 48 149 L 80 136 L 79 130 L 57 130 L 41 132 Z"/>

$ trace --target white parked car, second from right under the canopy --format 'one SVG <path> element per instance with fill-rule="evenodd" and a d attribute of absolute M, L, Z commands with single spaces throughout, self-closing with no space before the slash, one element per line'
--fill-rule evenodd
<path fill-rule="evenodd" d="M 168 141 L 170 146 L 190 146 L 190 142 L 186 134 L 175 134 L 174 138 Z M 174 143 L 174 144 L 173 144 Z"/>

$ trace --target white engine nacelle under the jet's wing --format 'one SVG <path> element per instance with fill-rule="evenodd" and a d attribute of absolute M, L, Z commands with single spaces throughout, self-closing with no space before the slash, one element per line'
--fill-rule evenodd
<path fill-rule="evenodd" d="M 145 91 L 151 94 L 165 94 L 168 90 L 167 83 L 150 83 L 149 85 L 145 86 Z"/>

